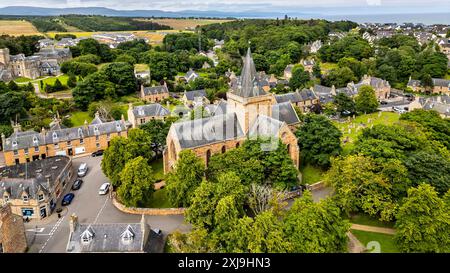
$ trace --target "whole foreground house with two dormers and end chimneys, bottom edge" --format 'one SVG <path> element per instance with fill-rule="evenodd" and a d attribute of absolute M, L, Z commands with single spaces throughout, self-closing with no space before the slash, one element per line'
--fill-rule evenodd
<path fill-rule="evenodd" d="M 162 252 L 162 236 L 156 234 L 142 215 L 139 223 L 78 222 L 72 214 L 69 220 L 68 253 L 155 253 Z"/>

